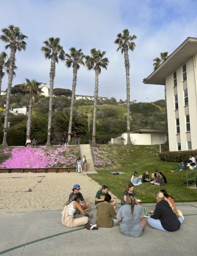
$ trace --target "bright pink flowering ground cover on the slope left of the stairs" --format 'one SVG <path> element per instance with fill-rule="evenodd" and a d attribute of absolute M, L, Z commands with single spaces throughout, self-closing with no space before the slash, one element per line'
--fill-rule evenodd
<path fill-rule="evenodd" d="M 69 153 L 66 146 L 52 146 L 47 148 L 6 148 L 4 155 L 10 157 L 0 164 L 0 168 L 49 168 L 74 166 L 76 156 Z"/>

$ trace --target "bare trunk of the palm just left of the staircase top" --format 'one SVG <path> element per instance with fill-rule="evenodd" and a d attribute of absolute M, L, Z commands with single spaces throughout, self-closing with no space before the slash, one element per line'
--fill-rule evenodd
<path fill-rule="evenodd" d="M 67 144 L 71 144 L 71 133 L 72 133 L 72 117 L 73 117 L 73 110 L 74 110 L 74 97 L 77 85 L 77 66 L 74 65 L 73 67 L 73 79 L 72 79 L 72 97 L 71 97 L 71 109 L 70 109 L 70 119 L 69 119 L 69 131 L 68 131 L 68 138 Z"/>

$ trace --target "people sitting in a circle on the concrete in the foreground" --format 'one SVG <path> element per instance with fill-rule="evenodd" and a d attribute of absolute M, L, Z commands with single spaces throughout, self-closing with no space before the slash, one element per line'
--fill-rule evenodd
<path fill-rule="evenodd" d="M 91 217 L 89 203 L 85 202 L 83 195 L 80 193 L 79 184 L 75 184 L 72 190 L 73 192 L 65 203 L 62 212 L 62 224 L 66 227 L 87 225 Z M 139 237 L 147 223 L 160 231 L 177 231 L 184 222 L 184 216 L 180 210 L 176 209 L 173 197 L 169 196 L 164 189 L 158 191 L 155 197 L 157 204 L 154 213 L 146 220 L 144 218 L 144 207 L 135 197 L 134 184 L 128 184 L 124 191 L 124 200 L 121 201 L 122 206 L 118 213 L 116 213 L 115 207 L 117 201 L 112 200 L 111 195 L 108 194 L 107 185 L 103 185 L 96 194 L 97 220 L 96 225 L 91 224 L 92 228 L 110 228 L 119 225 L 121 233 L 133 237 Z M 78 213 L 84 216 L 76 217 Z"/>

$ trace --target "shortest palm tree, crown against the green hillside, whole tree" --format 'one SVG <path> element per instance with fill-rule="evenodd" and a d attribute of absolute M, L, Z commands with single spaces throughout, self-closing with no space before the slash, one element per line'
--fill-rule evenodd
<path fill-rule="evenodd" d="M 29 80 L 25 78 L 26 84 L 23 84 L 23 88 L 25 88 L 25 91 L 29 92 L 29 106 L 28 106 L 28 121 L 26 123 L 26 138 L 31 136 L 31 116 L 32 116 L 32 110 L 33 110 L 33 103 L 35 100 L 35 95 L 41 95 L 42 89 L 39 88 L 39 85 L 42 84 L 42 82 L 37 82 L 35 79 Z"/>

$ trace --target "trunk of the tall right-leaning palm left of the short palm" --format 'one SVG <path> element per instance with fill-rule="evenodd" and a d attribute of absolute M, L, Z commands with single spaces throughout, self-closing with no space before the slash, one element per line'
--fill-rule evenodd
<path fill-rule="evenodd" d="M 9 69 L 9 75 L 8 75 L 8 88 L 7 88 L 6 103 L 5 103 L 5 119 L 4 119 L 4 125 L 3 125 L 2 146 L 8 146 L 7 131 L 9 129 L 8 119 L 9 119 L 9 110 L 10 110 L 10 94 L 11 94 L 11 87 L 12 87 L 12 80 L 13 80 L 13 67 L 15 66 L 15 53 L 16 53 L 16 48 L 12 47 L 10 52 L 10 69 Z"/>

